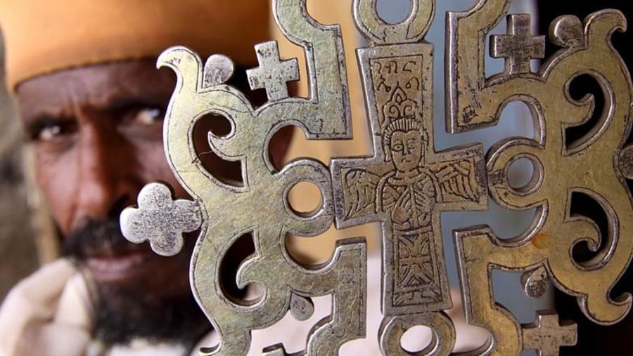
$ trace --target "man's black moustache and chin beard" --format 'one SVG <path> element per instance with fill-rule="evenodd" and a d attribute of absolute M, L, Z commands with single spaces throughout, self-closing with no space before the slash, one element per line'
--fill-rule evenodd
<path fill-rule="evenodd" d="M 81 265 L 87 251 L 116 251 L 129 244 L 116 220 L 89 220 L 65 239 L 64 255 Z M 92 336 L 106 345 L 126 345 L 134 338 L 145 338 L 191 349 L 211 329 L 191 293 L 158 298 L 146 293 L 142 281 L 134 285 L 98 284 L 96 289 Z"/>

